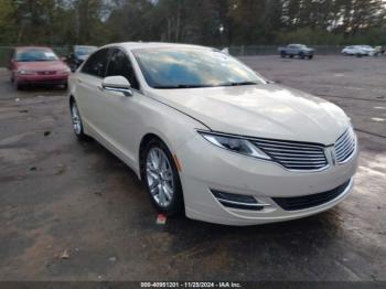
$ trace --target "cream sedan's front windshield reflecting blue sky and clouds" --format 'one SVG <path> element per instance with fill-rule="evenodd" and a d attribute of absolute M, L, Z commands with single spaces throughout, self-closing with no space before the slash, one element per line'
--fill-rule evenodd
<path fill-rule="evenodd" d="M 265 84 L 254 71 L 232 56 L 202 49 L 135 50 L 149 86 L 194 88 Z"/>

